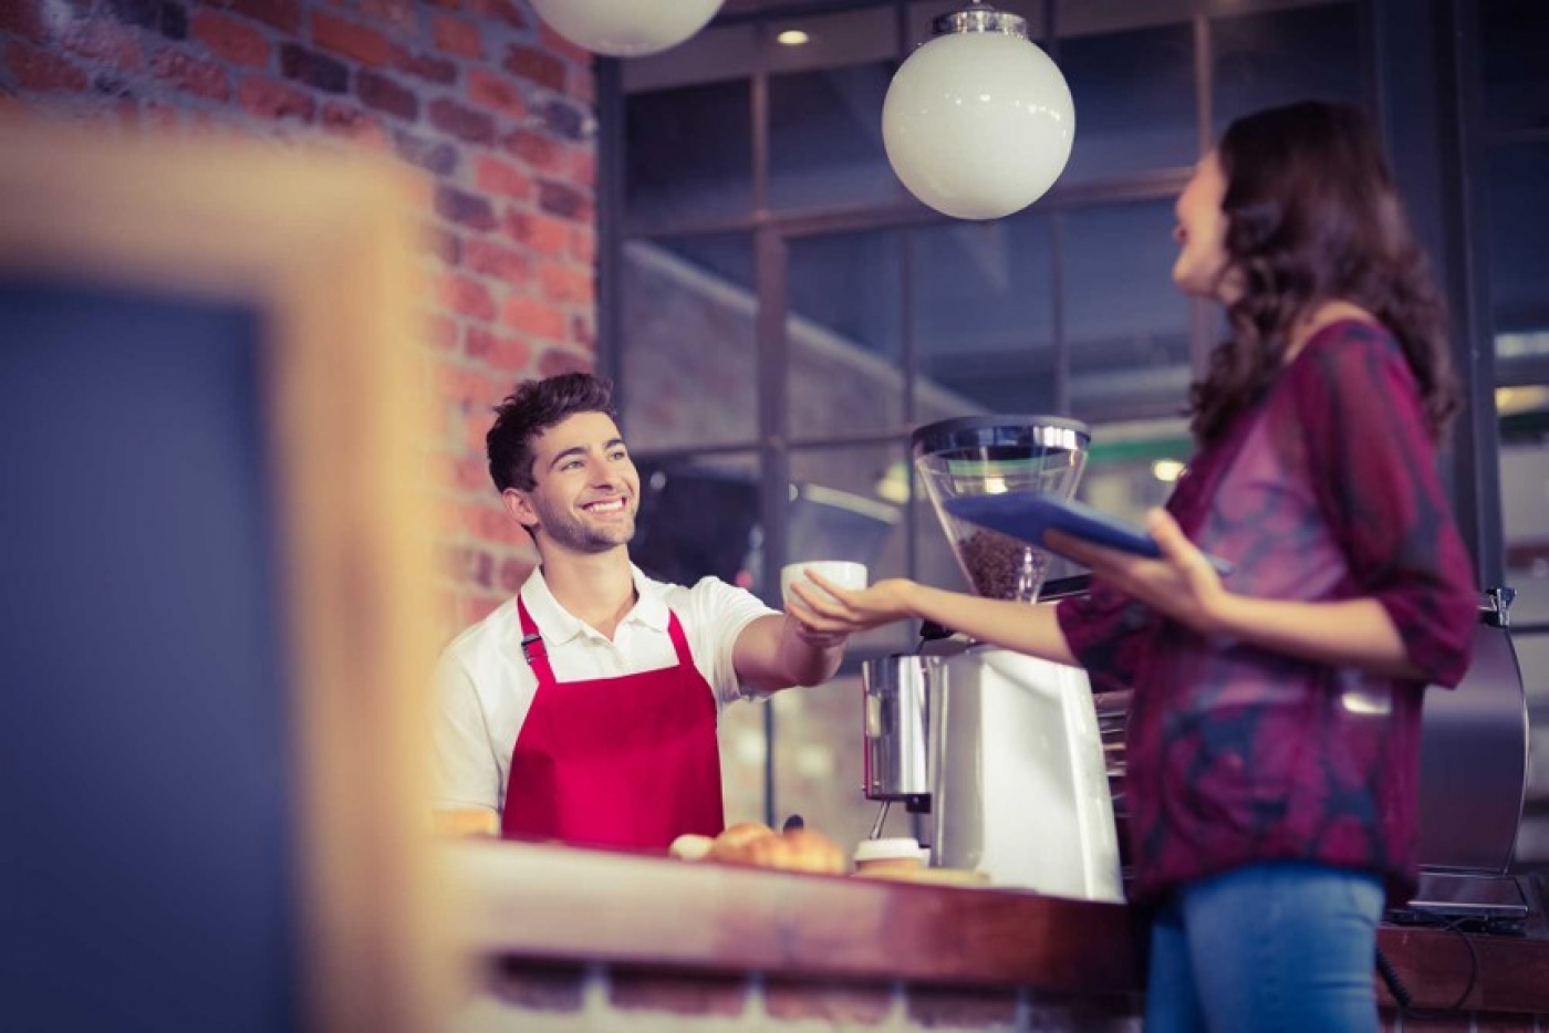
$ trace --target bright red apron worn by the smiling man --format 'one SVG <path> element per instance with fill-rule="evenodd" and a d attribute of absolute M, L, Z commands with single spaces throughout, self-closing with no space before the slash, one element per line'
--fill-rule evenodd
<path fill-rule="evenodd" d="M 516 607 L 538 692 L 511 750 L 502 835 L 666 850 L 688 832 L 720 833 L 716 697 L 677 613 L 675 668 L 561 683 L 520 598 Z"/>

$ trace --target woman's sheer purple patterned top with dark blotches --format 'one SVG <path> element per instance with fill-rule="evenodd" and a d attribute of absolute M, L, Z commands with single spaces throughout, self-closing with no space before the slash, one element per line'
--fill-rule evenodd
<path fill-rule="evenodd" d="M 1414 378 L 1382 327 L 1335 322 L 1202 448 L 1168 500 L 1248 596 L 1374 596 L 1430 681 L 1468 666 L 1478 595 Z M 1422 685 L 1205 638 L 1104 584 L 1060 602 L 1097 689 L 1132 688 L 1135 900 L 1241 864 L 1416 878 Z"/>

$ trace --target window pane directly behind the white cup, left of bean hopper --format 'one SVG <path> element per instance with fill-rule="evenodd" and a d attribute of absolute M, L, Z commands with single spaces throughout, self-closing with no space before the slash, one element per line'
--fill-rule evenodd
<path fill-rule="evenodd" d="M 889 472 L 905 460 L 903 444 L 802 449 L 790 457 L 792 502 L 785 562 L 849 559 L 872 581 L 908 573 L 905 506 L 891 497 Z M 850 641 L 850 654 L 898 652 L 912 629 L 878 627 Z"/>

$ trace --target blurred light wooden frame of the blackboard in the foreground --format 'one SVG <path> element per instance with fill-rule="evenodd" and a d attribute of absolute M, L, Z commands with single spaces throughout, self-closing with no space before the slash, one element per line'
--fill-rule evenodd
<path fill-rule="evenodd" d="M 418 702 L 434 660 L 417 348 L 417 180 L 262 142 L 0 121 L 0 271 L 251 305 L 296 757 L 301 1021 L 445 1014 Z M 90 974 L 85 974 L 90 977 Z"/>

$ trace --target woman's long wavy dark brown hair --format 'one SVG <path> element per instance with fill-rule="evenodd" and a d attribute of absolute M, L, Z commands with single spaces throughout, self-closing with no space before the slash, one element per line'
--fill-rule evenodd
<path fill-rule="evenodd" d="M 1227 181 L 1230 338 L 1190 392 L 1194 437 L 1218 438 L 1279 375 L 1295 324 L 1320 302 L 1360 305 L 1399 339 L 1433 437 L 1458 409 L 1445 311 L 1410 232 L 1377 135 L 1357 108 L 1304 101 L 1235 121 L 1216 149 Z"/>

